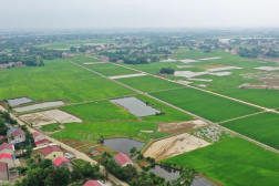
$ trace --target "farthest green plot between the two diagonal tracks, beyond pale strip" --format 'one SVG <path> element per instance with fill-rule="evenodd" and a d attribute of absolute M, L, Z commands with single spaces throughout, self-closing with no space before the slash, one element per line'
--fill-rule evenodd
<path fill-rule="evenodd" d="M 125 69 L 118 65 L 114 65 L 112 63 L 101 63 L 101 64 L 89 64 L 84 65 L 87 69 L 91 69 L 95 72 L 99 72 L 106 76 L 113 76 L 113 75 L 127 75 L 127 74 L 136 74 L 138 72 Z"/>

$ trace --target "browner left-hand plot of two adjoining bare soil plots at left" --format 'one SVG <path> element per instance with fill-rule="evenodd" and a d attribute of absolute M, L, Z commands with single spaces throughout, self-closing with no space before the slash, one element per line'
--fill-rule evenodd
<path fill-rule="evenodd" d="M 32 123 L 33 126 L 42 126 L 42 125 L 56 123 L 55 120 L 52 120 L 41 113 L 25 114 L 25 115 L 19 116 L 19 118 L 27 123 Z"/>

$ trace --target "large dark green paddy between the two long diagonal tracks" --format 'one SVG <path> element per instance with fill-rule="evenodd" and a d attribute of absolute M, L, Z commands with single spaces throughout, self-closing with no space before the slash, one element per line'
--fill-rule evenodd
<path fill-rule="evenodd" d="M 154 92 L 151 95 L 211 122 L 221 122 L 260 111 L 252 106 L 188 87 Z"/>

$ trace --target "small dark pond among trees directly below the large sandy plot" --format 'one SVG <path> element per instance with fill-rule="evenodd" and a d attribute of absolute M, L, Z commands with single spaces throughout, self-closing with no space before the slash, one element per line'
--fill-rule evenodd
<path fill-rule="evenodd" d="M 149 169 L 149 172 L 154 173 L 157 176 L 164 177 L 166 182 L 177 179 L 180 175 L 180 172 L 178 170 L 161 167 L 159 165 L 155 165 Z"/>

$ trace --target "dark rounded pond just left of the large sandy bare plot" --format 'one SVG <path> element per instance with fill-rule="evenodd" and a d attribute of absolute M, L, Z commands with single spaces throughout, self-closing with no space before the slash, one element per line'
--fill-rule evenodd
<path fill-rule="evenodd" d="M 144 146 L 144 143 L 130 138 L 110 138 L 104 141 L 104 145 L 116 152 L 130 154 L 132 147 L 141 149 Z"/>

